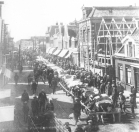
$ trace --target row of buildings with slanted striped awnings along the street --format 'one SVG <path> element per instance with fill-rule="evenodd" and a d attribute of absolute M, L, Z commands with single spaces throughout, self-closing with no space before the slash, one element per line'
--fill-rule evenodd
<path fill-rule="evenodd" d="M 46 36 L 47 53 L 70 59 L 78 65 L 78 25 L 76 21 L 68 25 L 62 23 L 52 25 L 48 28 Z"/>

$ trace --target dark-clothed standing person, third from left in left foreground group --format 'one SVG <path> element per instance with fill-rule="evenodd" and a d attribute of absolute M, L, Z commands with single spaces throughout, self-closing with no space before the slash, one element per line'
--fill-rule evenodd
<path fill-rule="evenodd" d="M 44 89 L 42 89 L 42 91 L 39 93 L 39 103 L 40 103 L 40 111 L 44 112 L 45 110 L 45 101 L 47 101 L 47 97 L 46 97 L 46 93 L 44 91 Z"/>

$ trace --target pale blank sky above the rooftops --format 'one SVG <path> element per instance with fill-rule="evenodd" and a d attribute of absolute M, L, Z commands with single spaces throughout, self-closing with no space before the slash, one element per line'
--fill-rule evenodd
<path fill-rule="evenodd" d="M 139 0 L 1 0 L 2 19 L 14 41 L 45 36 L 56 22 L 67 24 L 82 18 L 82 6 L 139 6 Z"/>

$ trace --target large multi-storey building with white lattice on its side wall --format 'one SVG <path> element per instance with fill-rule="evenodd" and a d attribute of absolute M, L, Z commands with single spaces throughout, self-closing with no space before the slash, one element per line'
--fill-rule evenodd
<path fill-rule="evenodd" d="M 121 40 L 138 27 L 139 7 L 83 7 L 82 13 L 81 64 L 86 69 L 90 69 L 91 61 L 95 62 L 93 67 L 113 66 L 113 55 L 122 46 Z"/>

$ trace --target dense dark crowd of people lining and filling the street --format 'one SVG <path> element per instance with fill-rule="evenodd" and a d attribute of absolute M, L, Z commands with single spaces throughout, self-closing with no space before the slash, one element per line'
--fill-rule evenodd
<path fill-rule="evenodd" d="M 92 104 L 93 97 L 92 98 L 86 98 L 84 96 L 84 91 L 81 87 L 94 87 L 96 88 L 99 93 L 101 94 L 107 94 L 109 97 L 111 97 L 113 101 L 113 107 L 120 106 L 121 111 L 125 113 L 125 102 L 126 98 L 124 96 L 124 87 L 122 83 L 119 81 L 116 83 L 115 79 L 111 76 L 105 74 L 104 76 L 100 76 L 97 73 L 92 73 L 92 71 L 87 71 L 84 68 L 80 68 L 77 65 L 74 65 L 70 63 L 69 61 L 62 60 L 62 59 L 56 59 L 53 57 L 47 58 L 51 63 L 56 64 L 57 66 L 61 67 L 66 71 L 69 75 L 74 75 L 75 79 L 79 79 L 82 82 L 82 85 L 76 85 L 69 89 L 67 86 L 65 86 L 70 92 L 72 92 L 73 95 L 75 95 L 74 98 L 74 107 L 73 107 L 73 113 L 74 118 L 77 126 L 80 126 L 78 124 L 79 117 L 81 115 L 81 110 L 84 109 L 83 105 L 81 104 L 81 101 L 84 103 L 84 105 Z M 63 81 L 59 78 L 59 74 L 57 71 L 54 71 L 51 67 L 48 67 L 44 63 L 40 63 L 37 61 L 32 61 L 32 67 L 33 67 L 33 73 L 30 73 L 28 75 L 28 85 L 32 89 L 32 93 L 35 95 L 32 102 L 31 102 L 31 111 L 32 115 L 38 116 L 40 113 L 44 113 L 46 111 L 54 111 L 54 105 L 52 100 L 49 100 L 46 96 L 46 93 L 44 90 L 42 90 L 38 97 L 36 95 L 36 90 L 38 88 L 38 81 L 45 82 L 48 81 L 49 88 L 52 88 L 53 94 L 55 94 L 56 88 L 58 87 L 58 83 L 60 81 Z M 15 74 L 14 80 L 15 84 L 18 84 L 19 76 L 18 74 Z M 136 106 L 136 90 L 135 87 L 131 87 L 131 98 L 130 98 L 130 105 L 131 105 L 131 111 L 134 114 L 134 107 Z M 88 100 L 89 99 L 89 100 Z M 27 116 L 29 113 L 29 107 L 28 107 L 28 101 L 29 101 L 29 95 L 24 91 L 21 98 L 23 102 L 23 113 L 24 113 L 24 121 L 27 122 Z M 86 103 L 87 102 L 87 103 Z M 90 105 L 90 110 L 92 110 L 92 106 Z M 84 128 L 83 131 L 89 132 L 88 129 L 90 128 L 90 125 L 94 123 L 93 119 L 87 120 L 88 128 Z M 68 123 L 65 123 L 65 126 L 67 127 L 68 131 L 70 132 L 70 127 Z M 77 131 L 81 132 L 82 128 L 77 127 Z M 90 128 L 91 129 L 91 128 Z M 97 129 L 97 128 L 95 128 Z"/>

